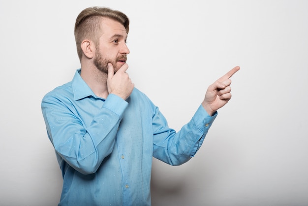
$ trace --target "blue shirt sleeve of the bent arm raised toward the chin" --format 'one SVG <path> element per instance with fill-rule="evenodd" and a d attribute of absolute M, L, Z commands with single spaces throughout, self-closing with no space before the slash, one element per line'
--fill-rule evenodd
<path fill-rule="evenodd" d="M 112 152 L 127 105 L 120 97 L 110 94 L 88 127 L 69 100 L 45 96 L 41 108 L 56 152 L 78 172 L 90 174 Z"/>

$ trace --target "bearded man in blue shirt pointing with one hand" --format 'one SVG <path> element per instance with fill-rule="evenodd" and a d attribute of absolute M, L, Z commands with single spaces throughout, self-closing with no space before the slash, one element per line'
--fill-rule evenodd
<path fill-rule="evenodd" d="M 126 70 L 129 20 L 91 7 L 76 19 L 81 69 L 45 95 L 42 113 L 62 170 L 59 206 L 149 206 L 152 157 L 181 165 L 200 148 L 231 98 L 239 67 L 209 86 L 192 119 L 175 132 Z"/>

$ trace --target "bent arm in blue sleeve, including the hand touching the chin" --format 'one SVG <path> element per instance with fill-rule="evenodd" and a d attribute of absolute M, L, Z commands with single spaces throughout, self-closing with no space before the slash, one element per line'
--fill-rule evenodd
<path fill-rule="evenodd" d="M 134 87 L 125 73 L 127 68 L 124 64 L 116 74 L 112 66 L 109 68 L 109 95 L 103 105 L 101 101 L 74 101 L 65 89 L 50 93 L 42 101 L 48 137 L 61 158 L 78 172 L 96 172 L 113 151 L 118 127 L 128 105 L 124 100 Z"/>

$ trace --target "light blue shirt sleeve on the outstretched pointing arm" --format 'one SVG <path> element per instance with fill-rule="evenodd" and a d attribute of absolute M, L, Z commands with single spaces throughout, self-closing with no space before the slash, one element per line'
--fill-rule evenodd
<path fill-rule="evenodd" d="M 170 165 L 181 165 L 193 157 L 201 147 L 217 112 L 210 116 L 202 105 L 192 119 L 179 132 L 168 127 L 164 116 L 156 107 L 153 116 L 153 156 Z"/>

